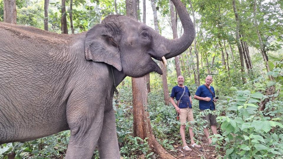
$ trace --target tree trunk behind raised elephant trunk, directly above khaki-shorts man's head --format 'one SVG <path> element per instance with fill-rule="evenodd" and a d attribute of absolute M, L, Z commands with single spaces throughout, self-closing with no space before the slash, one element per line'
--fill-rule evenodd
<path fill-rule="evenodd" d="M 172 24 L 172 31 L 173 31 L 173 39 L 177 39 L 177 26 L 176 26 L 176 19 L 175 19 L 175 7 L 172 1 L 170 3 L 170 11 L 171 11 L 171 24 Z M 181 68 L 180 68 L 180 60 L 179 56 L 175 56 L 175 67 L 177 72 L 177 77 L 181 75 Z"/>

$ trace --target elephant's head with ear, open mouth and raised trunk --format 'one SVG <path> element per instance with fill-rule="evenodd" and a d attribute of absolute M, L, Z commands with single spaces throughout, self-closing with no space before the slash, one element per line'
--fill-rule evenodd
<path fill-rule="evenodd" d="M 141 77 L 161 69 L 151 57 L 159 61 L 184 52 L 195 37 L 195 29 L 179 0 L 172 0 L 184 28 L 179 39 L 166 39 L 152 28 L 127 16 L 107 16 L 86 34 L 85 56 L 88 60 L 105 62 L 130 77 Z"/>

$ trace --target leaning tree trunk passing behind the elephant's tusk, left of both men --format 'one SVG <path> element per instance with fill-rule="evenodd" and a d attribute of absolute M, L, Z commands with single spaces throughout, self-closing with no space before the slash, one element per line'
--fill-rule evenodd
<path fill-rule="evenodd" d="M 153 0 L 151 0 L 151 6 L 152 6 L 152 11 L 153 11 L 153 19 L 154 19 L 154 30 L 159 33 L 157 11 L 156 11 L 156 6 Z M 162 84 L 163 84 L 164 101 L 166 105 L 169 105 L 170 97 L 169 97 L 168 84 L 167 84 L 167 70 L 166 70 L 166 66 L 164 66 L 161 61 L 159 63 L 160 63 L 161 70 L 163 73 L 161 77 L 162 77 Z"/>

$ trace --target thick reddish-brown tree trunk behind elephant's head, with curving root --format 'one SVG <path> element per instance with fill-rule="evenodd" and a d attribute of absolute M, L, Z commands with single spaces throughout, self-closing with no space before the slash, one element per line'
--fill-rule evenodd
<path fill-rule="evenodd" d="M 153 0 L 152 0 L 153 2 Z M 137 19 L 133 16 L 136 13 L 136 0 L 126 0 L 127 16 Z M 155 4 L 154 4 L 155 6 Z M 154 7 L 156 9 L 156 7 Z M 134 136 L 142 139 L 148 138 L 149 147 L 161 158 L 174 158 L 155 139 L 149 120 L 147 109 L 147 86 L 145 77 L 132 78 L 133 87 L 133 117 L 134 117 Z"/>

